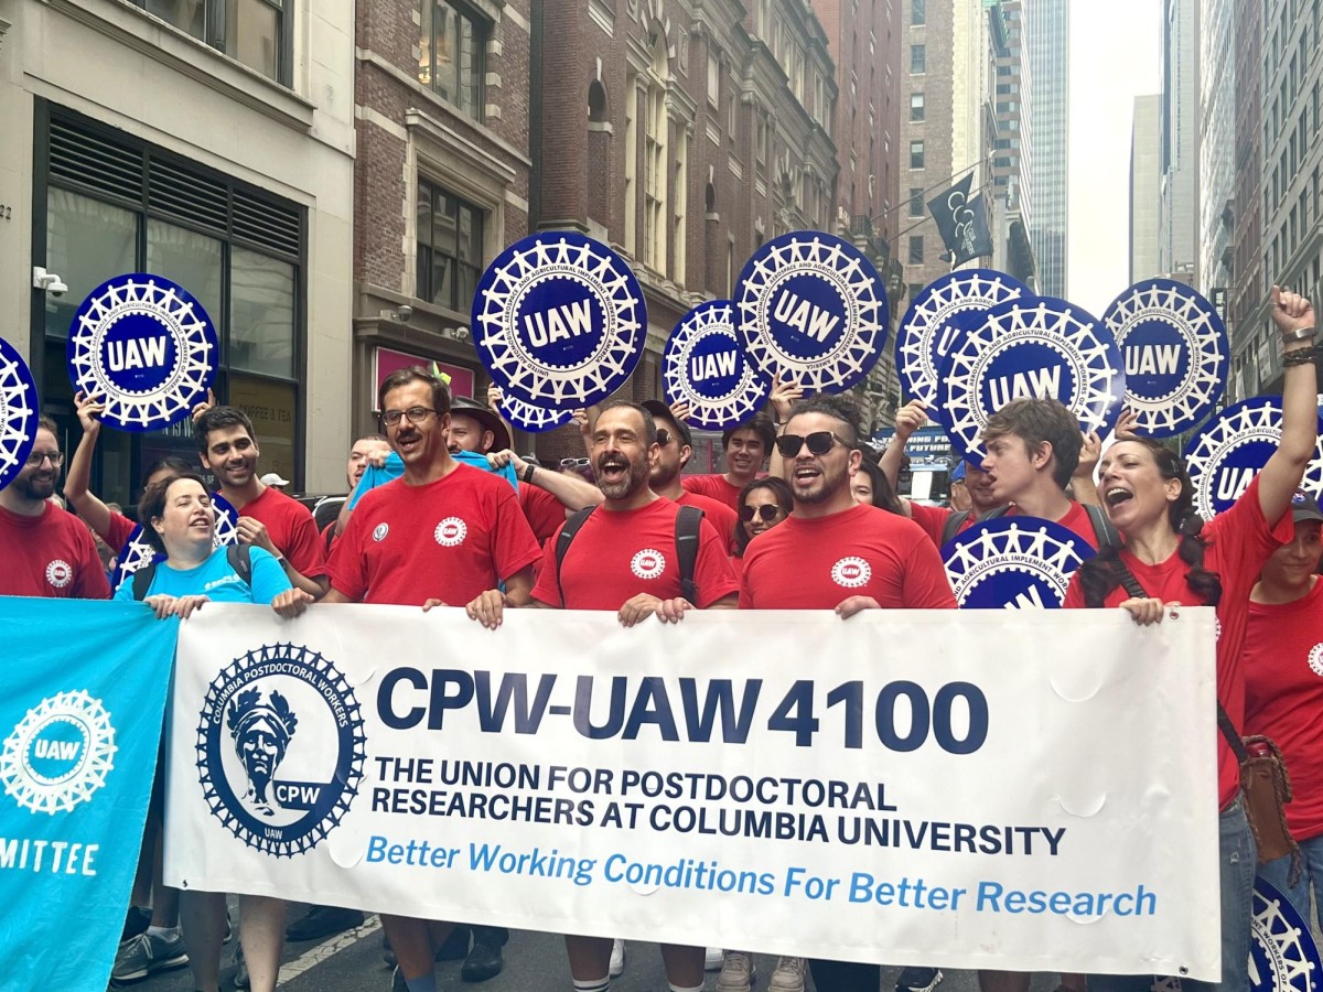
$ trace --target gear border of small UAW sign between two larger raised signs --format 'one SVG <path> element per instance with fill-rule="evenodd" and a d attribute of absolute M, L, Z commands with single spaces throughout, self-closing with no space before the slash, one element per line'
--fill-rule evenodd
<path fill-rule="evenodd" d="M 709 337 L 729 339 L 736 354 L 736 385 L 720 397 L 703 393 L 689 378 L 689 357 L 699 343 Z M 744 352 L 730 300 L 700 303 L 675 325 L 662 352 L 662 384 L 667 403 L 688 403 L 689 414 L 684 419 L 709 431 L 744 423 L 771 392 L 771 380 L 759 376 Z"/>

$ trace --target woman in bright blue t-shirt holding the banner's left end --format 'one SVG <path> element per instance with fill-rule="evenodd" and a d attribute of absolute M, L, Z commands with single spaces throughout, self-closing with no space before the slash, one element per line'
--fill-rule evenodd
<path fill-rule="evenodd" d="M 245 582 L 230 565 L 226 549 L 212 546 L 216 512 L 201 476 L 176 475 L 148 487 L 138 504 L 138 518 L 143 538 L 165 553 L 144 598 L 161 619 L 187 618 L 209 602 L 259 603 L 282 616 L 298 616 L 312 602 L 312 597 L 290 585 L 279 561 L 263 549 L 249 549 L 253 571 Z M 132 602 L 132 581 L 120 583 L 115 599 Z M 217 989 L 225 940 L 225 893 L 181 893 L 180 921 L 193 987 Z M 283 899 L 239 897 L 239 940 L 254 992 L 275 989 L 283 936 Z"/>

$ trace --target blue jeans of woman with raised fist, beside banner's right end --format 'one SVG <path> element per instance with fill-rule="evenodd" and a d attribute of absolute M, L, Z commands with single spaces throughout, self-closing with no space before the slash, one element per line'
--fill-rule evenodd
<path fill-rule="evenodd" d="M 1254 833 L 1241 800 L 1232 803 L 1217 820 L 1217 864 L 1222 903 L 1222 980 L 1181 979 L 1184 992 L 1248 992 L 1250 917 L 1254 907 Z M 1283 872 L 1285 874 L 1285 872 Z M 1283 880 L 1285 881 L 1285 880 Z M 1189 911 L 1197 913 L 1197 906 Z M 1089 992 L 1148 992 L 1151 975 L 1090 975 Z"/>

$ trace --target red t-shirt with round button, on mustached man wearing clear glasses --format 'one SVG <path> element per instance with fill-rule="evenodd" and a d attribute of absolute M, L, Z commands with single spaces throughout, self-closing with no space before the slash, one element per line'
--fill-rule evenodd
<path fill-rule="evenodd" d="M 426 485 L 368 492 L 331 553 L 331 587 L 364 603 L 463 606 L 541 552 L 500 476 L 470 466 Z"/>

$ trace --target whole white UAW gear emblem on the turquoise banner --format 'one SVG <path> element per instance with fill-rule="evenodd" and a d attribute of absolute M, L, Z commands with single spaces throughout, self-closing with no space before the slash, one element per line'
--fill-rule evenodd
<path fill-rule="evenodd" d="M 29 709 L 5 738 L 0 782 L 34 813 L 69 812 L 106 784 L 115 750 L 115 727 L 101 700 L 62 692 Z"/>

